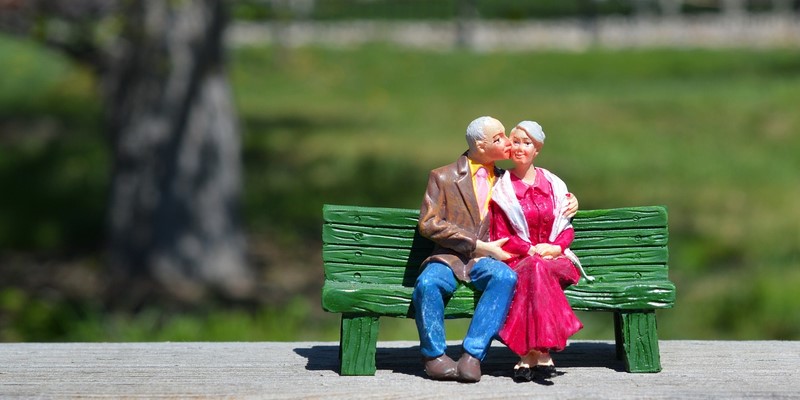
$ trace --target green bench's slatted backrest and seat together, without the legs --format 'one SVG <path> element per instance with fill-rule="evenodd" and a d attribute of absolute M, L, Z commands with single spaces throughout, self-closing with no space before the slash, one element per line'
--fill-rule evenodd
<path fill-rule="evenodd" d="M 408 301 L 419 264 L 433 243 L 419 235 L 419 210 L 325 205 L 322 238 L 325 287 L 323 307 L 328 311 L 364 311 L 380 315 L 410 316 Z M 566 293 L 577 309 L 601 309 L 625 299 L 599 299 L 598 288 L 616 287 L 617 296 L 642 294 L 622 308 L 667 308 L 669 296 L 653 299 L 647 293 L 671 290 L 667 267 L 667 212 L 662 206 L 581 210 L 573 219 L 575 240 L 571 249 L 587 274 Z M 329 295 L 325 292 L 329 291 Z M 342 299 L 339 292 L 354 293 Z M 336 292 L 336 293 L 334 293 Z M 645 293 L 647 292 L 647 293 Z M 383 299 L 383 297 L 390 297 Z M 451 316 L 469 315 L 477 294 L 464 288 L 450 304 Z M 608 296 L 606 296 L 608 297 Z M 673 297 L 674 299 L 674 293 Z M 342 302 L 346 304 L 342 304 Z M 380 304 L 361 304 L 361 303 Z"/>

